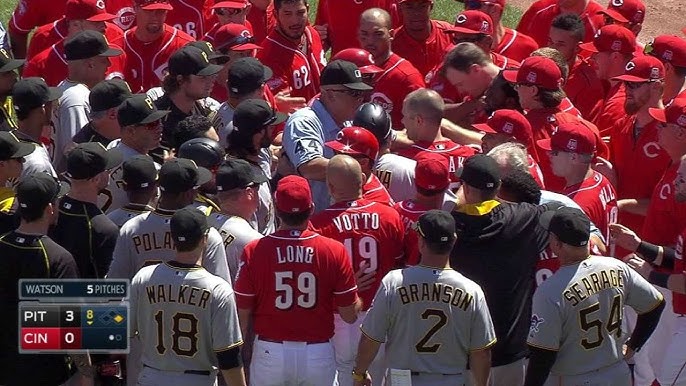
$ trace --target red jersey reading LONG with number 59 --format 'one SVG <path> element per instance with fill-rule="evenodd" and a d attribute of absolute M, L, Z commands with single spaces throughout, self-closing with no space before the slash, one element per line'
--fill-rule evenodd
<path fill-rule="evenodd" d="M 334 304 L 347 307 L 357 299 L 343 244 L 309 230 L 255 240 L 241 262 L 236 305 L 253 310 L 255 334 L 268 339 L 326 341 L 333 336 Z"/>

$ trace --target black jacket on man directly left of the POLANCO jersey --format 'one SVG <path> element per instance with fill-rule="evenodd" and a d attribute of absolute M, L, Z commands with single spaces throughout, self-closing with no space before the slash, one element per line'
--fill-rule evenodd
<path fill-rule="evenodd" d="M 103 278 L 112 262 L 119 228 L 97 205 L 62 197 L 50 237 L 74 256 L 82 278 Z"/>

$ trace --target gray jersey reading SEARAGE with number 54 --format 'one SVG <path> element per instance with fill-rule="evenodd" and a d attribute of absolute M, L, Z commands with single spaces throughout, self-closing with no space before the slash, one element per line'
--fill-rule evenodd
<path fill-rule="evenodd" d="M 622 360 L 624 306 L 642 314 L 662 295 L 622 261 L 591 256 L 562 266 L 534 293 L 527 342 L 558 351 L 553 375 L 577 375 Z"/>

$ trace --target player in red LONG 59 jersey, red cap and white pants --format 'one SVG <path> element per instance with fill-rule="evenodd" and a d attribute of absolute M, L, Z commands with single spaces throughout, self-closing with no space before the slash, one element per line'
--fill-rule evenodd
<path fill-rule="evenodd" d="M 352 324 L 362 306 L 351 259 L 343 244 L 307 230 L 307 180 L 281 179 L 275 204 L 281 226 L 248 244 L 235 285 L 243 335 L 250 323 L 256 334 L 250 384 L 330 385 L 334 310 Z"/>

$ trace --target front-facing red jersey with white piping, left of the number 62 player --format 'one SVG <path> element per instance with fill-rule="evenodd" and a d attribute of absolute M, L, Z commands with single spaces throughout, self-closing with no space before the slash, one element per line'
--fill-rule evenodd
<path fill-rule="evenodd" d="M 165 24 L 162 36 L 143 43 L 136 37 L 136 28 L 124 32 L 121 39 L 113 42 L 123 47 L 126 53 L 124 79 L 133 93 L 160 86 L 167 74 L 167 62 L 171 54 L 193 41 L 185 32 Z"/>

